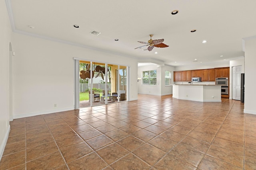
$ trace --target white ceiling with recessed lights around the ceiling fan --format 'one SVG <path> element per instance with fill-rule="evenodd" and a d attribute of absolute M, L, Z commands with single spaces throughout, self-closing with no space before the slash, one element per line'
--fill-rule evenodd
<path fill-rule="evenodd" d="M 256 35 L 256 0 L 6 2 L 14 32 L 140 61 L 154 59 L 172 66 L 221 62 L 244 56 L 242 38 Z M 171 15 L 173 10 L 179 13 Z M 74 24 L 79 28 L 73 27 Z M 192 29 L 197 31 L 191 33 Z M 101 34 L 92 35 L 92 30 Z M 169 47 L 155 47 L 152 51 L 134 49 L 143 45 L 137 41 L 147 42 L 149 34 L 154 34 L 152 39 L 164 39 Z M 207 43 L 203 44 L 203 40 Z M 198 62 L 193 62 L 194 59 Z"/>

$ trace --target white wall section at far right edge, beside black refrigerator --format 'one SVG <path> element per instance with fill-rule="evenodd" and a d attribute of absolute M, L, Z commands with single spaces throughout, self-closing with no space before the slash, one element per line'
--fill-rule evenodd
<path fill-rule="evenodd" d="M 256 37 L 245 39 L 244 113 L 256 114 Z"/>

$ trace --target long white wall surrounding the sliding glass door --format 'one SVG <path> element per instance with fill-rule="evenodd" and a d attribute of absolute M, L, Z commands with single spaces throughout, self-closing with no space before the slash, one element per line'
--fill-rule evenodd
<path fill-rule="evenodd" d="M 14 118 L 74 109 L 73 57 L 130 66 L 130 100 L 138 98 L 136 59 L 17 33 L 13 40 Z"/>

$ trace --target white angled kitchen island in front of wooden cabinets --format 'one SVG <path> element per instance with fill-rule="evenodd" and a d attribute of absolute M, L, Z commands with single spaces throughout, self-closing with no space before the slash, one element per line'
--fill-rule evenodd
<path fill-rule="evenodd" d="M 198 102 L 221 102 L 221 86 L 174 84 L 172 97 Z"/>

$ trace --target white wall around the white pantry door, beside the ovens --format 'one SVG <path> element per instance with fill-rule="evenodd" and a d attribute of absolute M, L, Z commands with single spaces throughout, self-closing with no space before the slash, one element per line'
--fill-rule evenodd
<path fill-rule="evenodd" d="M 230 60 L 229 62 L 230 65 L 230 73 L 229 73 L 229 98 L 232 99 L 232 67 L 233 66 L 242 66 L 242 72 L 244 73 L 244 56 L 238 57 L 234 60 Z"/>

